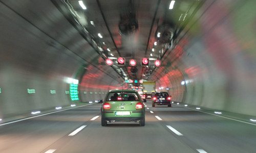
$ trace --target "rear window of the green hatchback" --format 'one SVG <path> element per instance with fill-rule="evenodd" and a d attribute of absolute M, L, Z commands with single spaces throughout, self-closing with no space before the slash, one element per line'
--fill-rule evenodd
<path fill-rule="evenodd" d="M 110 92 L 106 101 L 139 101 L 136 92 Z"/>

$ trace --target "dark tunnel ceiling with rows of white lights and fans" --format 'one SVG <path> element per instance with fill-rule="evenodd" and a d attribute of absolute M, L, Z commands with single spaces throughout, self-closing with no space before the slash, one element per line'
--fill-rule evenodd
<path fill-rule="evenodd" d="M 175 2 L 173 9 L 169 9 L 170 2 L 83 1 L 87 9 L 82 9 L 77 0 L 52 0 L 80 35 L 93 46 L 95 53 L 101 56 L 103 60 L 99 61 L 102 65 L 105 65 L 107 58 L 126 59 L 125 66 L 111 67 L 120 78 L 131 80 L 158 80 L 164 76 L 161 71 L 165 66 L 170 67 L 169 61 L 177 60 L 180 54 L 175 52 L 174 56 L 168 57 L 169 53 L 176 49 L 178 43 L 184 43 L 180 41 L 184 26 L 203 3 L 180 0 Z M 159 37 L 157 33 L 163 34 Z M 141 58 L 144 57 L 153 59 L 148 67 L 141 66 Z M 84 58 L 91 60 L 90 56 Z M 130 59 L 136 60 L 136 67 L 130 66 Z M 156 67 L 154 60 L 160 60 L 161 67 Z M 108 68 L 106 73 L 113 74 L 113 70 Z M 165 71 L 171 70 L 168 68 Z"/>

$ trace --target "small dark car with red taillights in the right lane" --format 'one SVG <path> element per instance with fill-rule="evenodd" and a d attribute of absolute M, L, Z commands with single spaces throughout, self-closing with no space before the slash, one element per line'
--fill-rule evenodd
<path fill-rule="evenodd" d="M 152 97 L 152 107 L 155 107 L 155 105 L 167 105 L 168 107 L 172 107 L 172 104 L 170 104 L 171 99 L 172 96 L 169 96 L 167 92 L 156 92 Z"/>

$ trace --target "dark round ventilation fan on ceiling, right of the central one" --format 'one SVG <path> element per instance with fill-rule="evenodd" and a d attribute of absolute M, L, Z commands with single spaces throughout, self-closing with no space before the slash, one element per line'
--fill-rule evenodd
<path fill-rule="evenodd" d="M 173 36 L 174 29 L 169 24 L 160 25 L 155 34 L 157 41 L 162 44 L 172 44 Z"/>

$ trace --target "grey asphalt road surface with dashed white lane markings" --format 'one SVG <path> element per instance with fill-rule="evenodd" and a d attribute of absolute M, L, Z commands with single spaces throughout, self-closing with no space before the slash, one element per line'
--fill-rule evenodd
<path fill-rule="evenodd" d="M 153 108 L 150 100 L 145 105 L 145 126 L 102 127 L 101 104 L 1 125 L 0 152 L 256 152 L 255 125 L 177 105 Z"/>

